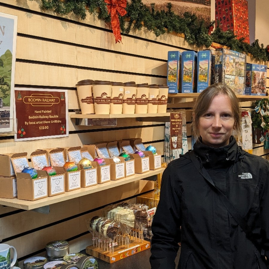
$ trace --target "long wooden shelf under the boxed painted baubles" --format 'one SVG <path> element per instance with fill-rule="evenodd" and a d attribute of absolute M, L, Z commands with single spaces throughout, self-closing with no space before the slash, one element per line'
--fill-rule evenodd
<path fill-rule="evenodd" d="M 149 172 L 145 172 L 142 174 L 135 174 L 127 178 L 111 180 L 103 184 L 98 184 L 98 185 L 87 187 L 87 188 L 76 189 L 70 192 L 65 192 L 63 194 L 52 196 L 52 197 L 42 198 L 36 201 L 19 200 L 17 198 L 14 198 L 14 199 L 0 198 L 0 204 L 4 206 L 15 207 L 15 208 L 24 209 L 24 210 L 32 210 L 39 207 L 44 207 L 44 206 L 56 204 L 62 201 L 77 198 L 80 196 L 88 195 L 91 193 L 100 192 L 102 190 L 110 189 L 113 187 L 118 187 L 118 186 L 130 183 L 130 182 L 134 182 L 140 179 L 146 179 L 151 176 L 162 173 L 163 171 L 164 171 L 164 168 L 150 170 Z"/>

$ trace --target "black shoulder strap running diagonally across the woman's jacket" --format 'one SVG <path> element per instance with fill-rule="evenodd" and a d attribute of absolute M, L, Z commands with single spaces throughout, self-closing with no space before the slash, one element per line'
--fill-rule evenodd
<path fill-rule="evenodd" d="M 235 209 L 235 207 L 230 202 L 230 200 L 215 186 L 209 173 L 206 171 L 206 169 L 202 165 L 200 165 L 193 150 L 190 153 L 190 157 L 191 157 L 192 163 L 194 164 L 195 168 L 203 176 L 203 178 L 206 179 L 206 181 L 210 184 L 210 186 L 212 186 L 214 191 L 221 198 L 226 209 L 230 212 L 230 214 L 235 219 L 235 221 L 239 224 L 239 226 L 242 228 L 242 230 L 246 233 L 247 238 L 251 240 L 251 242 L 255 245 L 255 247 L 258 250 L 260 250 L 260 247 L 258 246 L 257 242 L 253 241 L 253 233 L 252 233 L 250 227 L 247 225 L 247 221 L 238 213 L 238 211 Z"/>

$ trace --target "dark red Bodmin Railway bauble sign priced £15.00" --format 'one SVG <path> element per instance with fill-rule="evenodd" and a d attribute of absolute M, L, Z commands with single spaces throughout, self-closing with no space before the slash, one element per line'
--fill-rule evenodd
<path fill-rule="evenodd" d="M 15 141 L 69 135 L 66 90 L 15 88 Z"/>

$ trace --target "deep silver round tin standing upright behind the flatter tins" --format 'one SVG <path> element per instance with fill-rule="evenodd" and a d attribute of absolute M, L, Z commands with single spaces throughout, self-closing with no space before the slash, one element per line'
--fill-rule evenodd
<path fill-rule="evenodd" d="M 49 259 L 63 258 L 69 254 L 69 243 L 67 241 L 51 241 L 46 245 L 46 254 Z"/>

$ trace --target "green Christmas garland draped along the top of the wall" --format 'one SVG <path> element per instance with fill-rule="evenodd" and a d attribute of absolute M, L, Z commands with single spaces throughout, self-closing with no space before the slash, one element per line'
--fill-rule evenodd
<path fill-rule="evenodd" d="M 60 15 L 72 12 L 83 20 L 87 13 L 90 13 L 97 15 L 105 22 L 110 22 L 110 15 L 107 13 L 104 0 L 41 0 L 41 3 L 41 8 L 53 10 Z M 126 11 L 127 15 L 119 16 L 122 33 L 129 33 L 131 29 L 141 30 L 142 27 L 156 36 L 171 32 L 183 33 L 186 42 L 190 45 L 197 47 L 204 45 L 208 48 L 212 42 L 216 42 L 231 50 L 249 53 L 258 61 L 269 60 L 269 45 L 266 47 L 263 44 L 260 45 L 258 39 L 250 45 L 244 42 L 243 38 L 237 39 L 231 30 L 224 32 L 218 26 L 210 34 L 214 21 L 206 22 L 188 12 L 179 16 L 172 11 L 171 3 L 166 5 L 166 10 L 159 11 L 155 9 L 155 4 L 148 7 L 143 4 L 142 0 L 130 0 L 127 1 Z"/>

